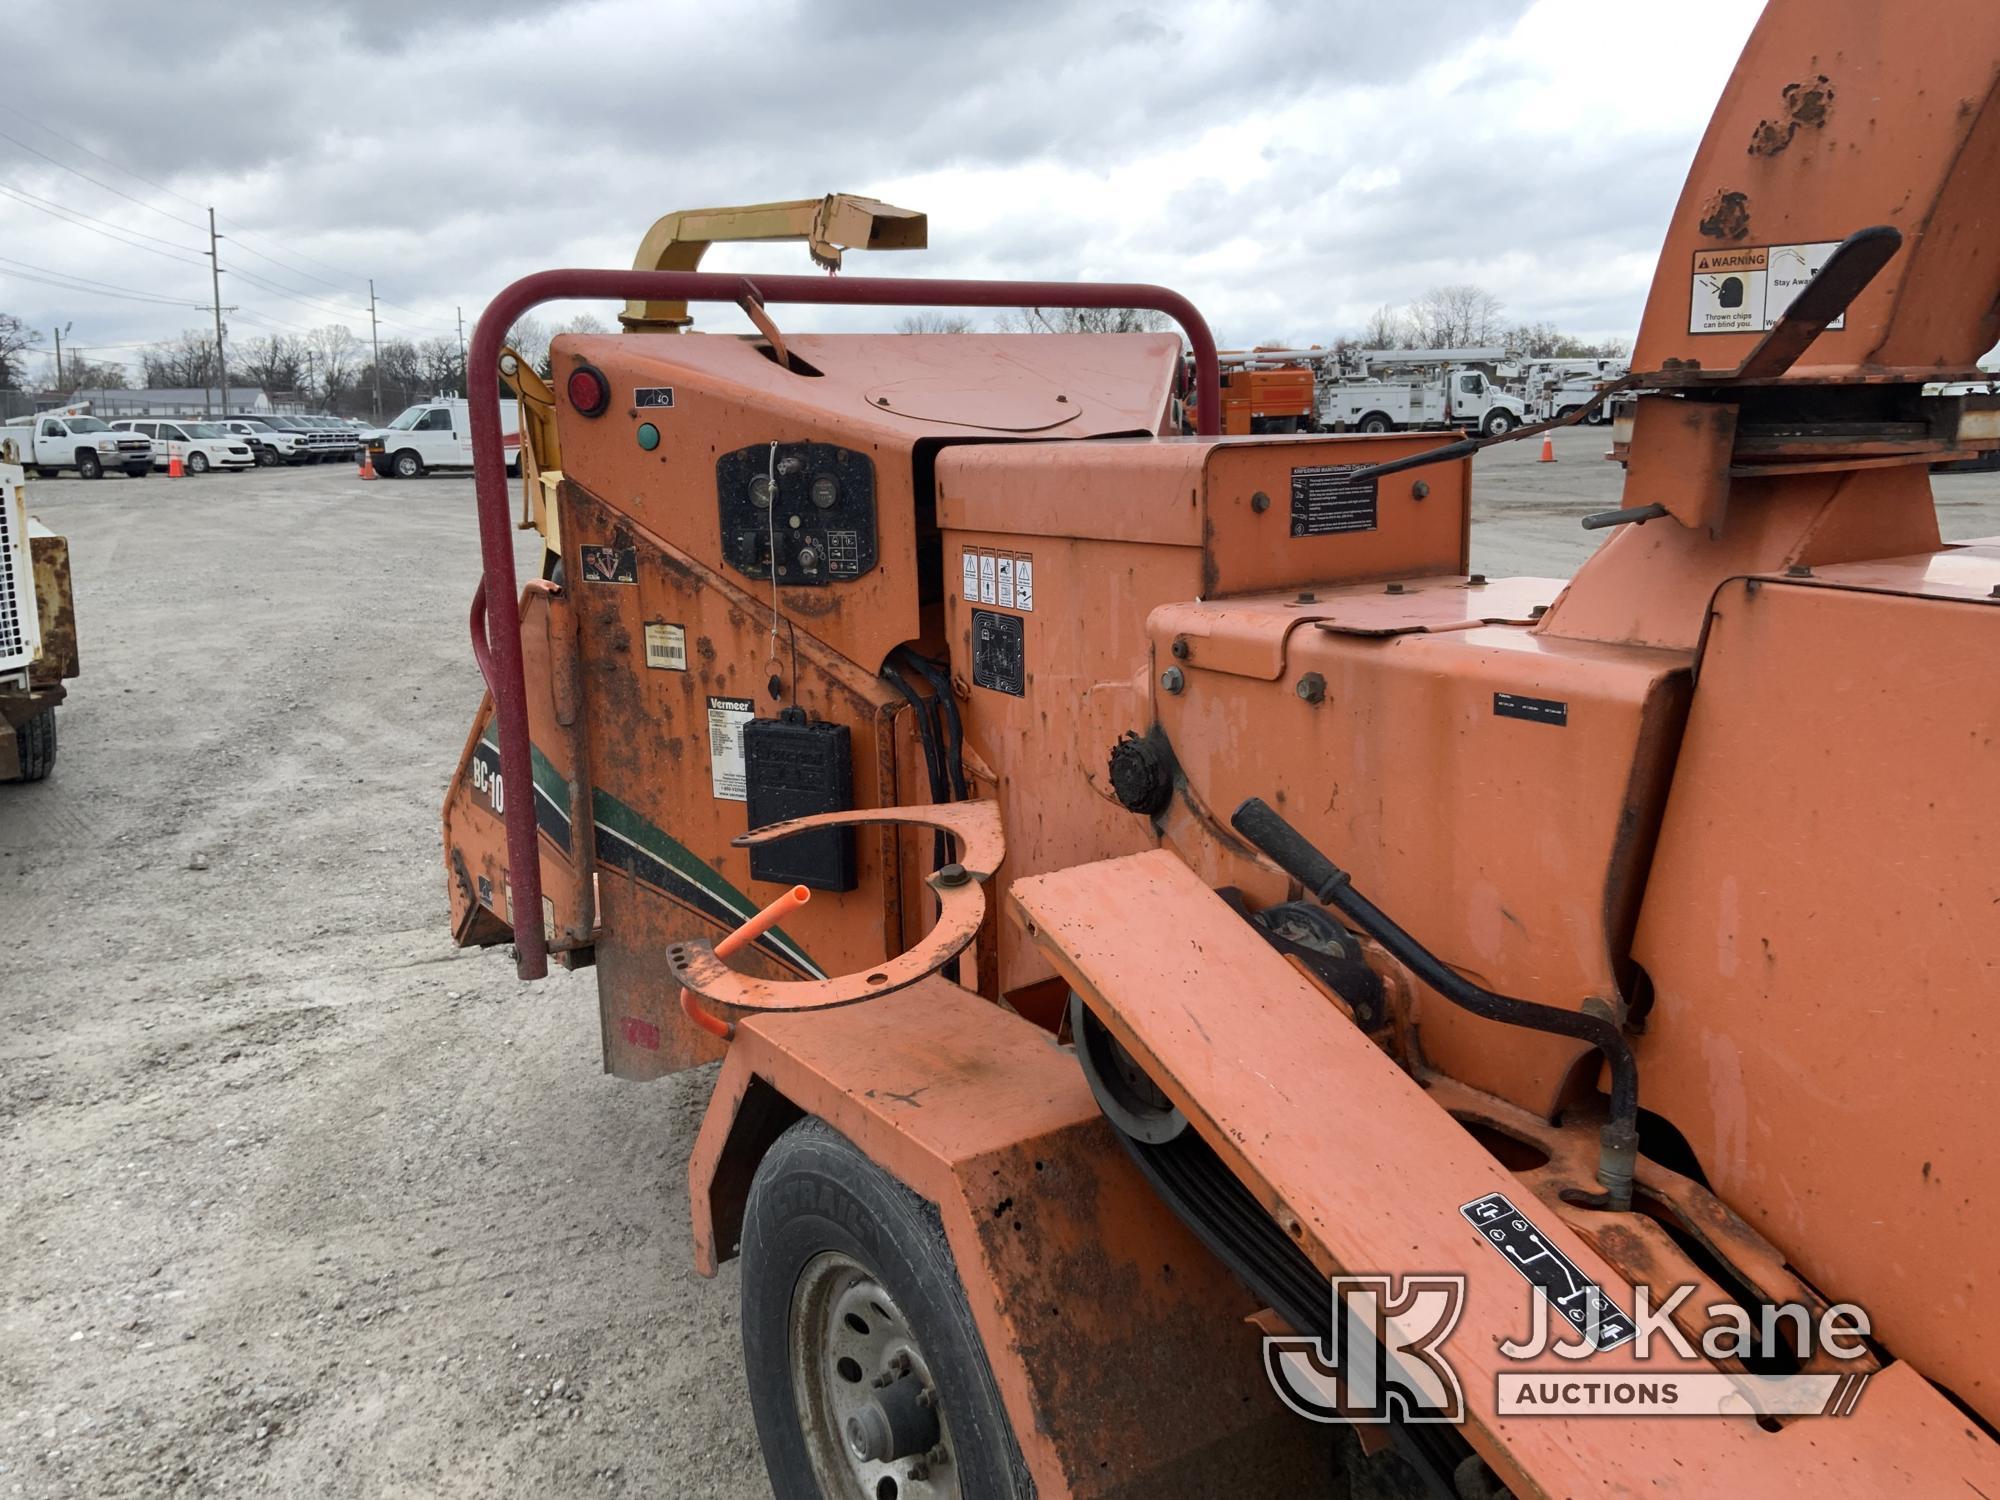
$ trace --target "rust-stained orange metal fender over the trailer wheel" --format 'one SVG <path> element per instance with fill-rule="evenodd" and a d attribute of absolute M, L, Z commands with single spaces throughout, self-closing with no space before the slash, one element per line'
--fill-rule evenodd
<path fill-rule="evenodd" d="M 808 1114 L 938 1208 L 1038 1494 L 1324 1478 L 1328 1436 L 1264 1378 L 1256 1300 L 1158 1202 L 1048 1032 L 942 978 L 744 1018 L 688 1166 L 704 1276 Z"/>

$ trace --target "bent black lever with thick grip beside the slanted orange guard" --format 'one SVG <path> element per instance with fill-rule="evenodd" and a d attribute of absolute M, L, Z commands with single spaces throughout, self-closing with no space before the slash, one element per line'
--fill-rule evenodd
<path fill-rule="evenodd" d="M 1312 892 L 1314 900 L 1322 906 L 1332 906 L 1348 918 L 1348 922 L 1382 944 L 1398 964 L 1460 1010 L 1470 1010 L 1474 1016 L 1498 1020 L 1506 1026 L 1574 1036 L 1602 1052 L 1604 1062 L 1612 1070 L 1612 1108 L 1610 1120 L 1598 1132 L 1598 1182 L 1604 1184 L 1614 1212 L 1622 1214 L 1632 1208 L 1632 1172 L 1638 1162 L 1638 1062 L 1632 1058 L 1632 1048 L 1618 1026 L 1582 1010 L 1564 1010 L 1534 1000 L 1514 1000 L 1494 994 L 1446 966 L 1442 958 L 1396 926 L 1382 908 L 1354 890 L 1348 872 L 1326 858 L 1312 840 L 1288 824 L 1264 798 L 1248 798 L 1230 814 L 1230 826 Z"/>

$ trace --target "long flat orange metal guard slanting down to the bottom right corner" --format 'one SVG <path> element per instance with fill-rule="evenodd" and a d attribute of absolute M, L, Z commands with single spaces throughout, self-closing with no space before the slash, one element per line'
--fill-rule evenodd
<path fill-rule="evenodd" d="M 1296 1244 L 1322 1276 L 1460 1276 L 1460 1314 L 1438 1352 L 1462 1390 L 1458 1432 L 1514 1494 L 2000 1494 L 2000 1444 L 1908 1364 L 1868 1376 L 1868 1400 L 1838 1418 L 1762 1430 L 1750 1418 L 1498 1410 L 1500 1378 L 1572 1374 L 1712 1376 L 1654 1346 L 1586 1362 L 1550 1352 L 1512 1362 L 1532 1328 L 1534 1286 L 1488 1246 L 1474 1218 L 1504 1198 L 1618 1308 L 1634 1294 L 1560 1212 L 1516 1176 L 1348 1022 L 1168 850 L 1016 880 L 1010 910 L 1070 988 L 1248 1192 L 1238 1242 Z M 1214 1200 L 1214 1194 L 1208 1196 Z M 1470 1218 L 1468 1218 L 1470 1214 Z M 1634 1226 L 1642 1216 L 1630 1216 Z M 1614 1226 L 1624 1228 L 1624 1226 Z M 1636 1232 L 1626 1230 L 1626 1236 Z M 1604 1238 L 1604 1236 L 1600 1236 Z M 1268 1240 L 1266 1240 L 1268 1242 Z"/>

